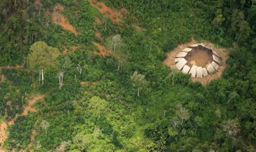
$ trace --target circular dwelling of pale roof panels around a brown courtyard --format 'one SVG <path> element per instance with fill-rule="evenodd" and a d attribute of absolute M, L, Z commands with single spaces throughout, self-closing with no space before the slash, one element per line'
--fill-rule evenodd
<path fill-rule="evenodd" d="M 175 56 L 176 67 L 193 78 L 203 78 L 218 71 L 222 58 L 213 49 L 200 44 L 193 44 Z"/>

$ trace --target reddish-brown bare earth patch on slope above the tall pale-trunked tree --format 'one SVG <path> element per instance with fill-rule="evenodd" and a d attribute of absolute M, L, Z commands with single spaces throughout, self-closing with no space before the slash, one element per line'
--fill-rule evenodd
<path fill-rule="evenodd" d="M 77 36 L 78 32 L 76 31 L 75 27 L 73 27 L 73 25 L 70 24 L 70 21 L 68 21 L 63 14 L 60 14 L 60 11 L 63 11 L 63 10 L 64 10 L 64 7 L 63 5 L 60 5 L 60 4 L 57 4 L 53 8 L 53 14 L 52 14 L 53 23 L 60 25 L 65 30 L 69 30 L 70 32 L 74 33 Z"/>

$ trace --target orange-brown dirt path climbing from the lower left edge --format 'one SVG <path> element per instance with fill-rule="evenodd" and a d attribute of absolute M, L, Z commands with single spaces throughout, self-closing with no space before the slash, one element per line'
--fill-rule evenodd
<path fill-rule="evenodd" d="M 8 128 L 8 125 L 13 125 L 15 122 L 15 119 L 17 119 L 18 116 L 27 116 L 28 112 L 37 112 L 36 109 L 32 108 L 31 106 L 37 102 L 37 100 L 44 99 L 44 94 L 38 94 L 37 96 L 32 97 L 31 99 L 28 99 L 28 105 L 24 107 L 24 111 L 21 113 L 21 115 L 16 115 L 14 119 L 11 119 L 8 123 L 7 122 L 1 122 L 0 124 L 0 145 L 2 145 L 6 138 L 8 137 L 8 132 L 6 129 Z M 0 152 L 3 152 L 5 150 L 2 150 L 0 147 Z"/>

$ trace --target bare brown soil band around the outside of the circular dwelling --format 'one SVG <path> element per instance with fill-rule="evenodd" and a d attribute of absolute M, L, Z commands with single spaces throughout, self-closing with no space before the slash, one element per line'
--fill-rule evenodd
<path fill-rule="evenodd" d="M 196 40 L 190 40 L 188 43 L 181 44 L 180 46 L 177 46 L 177 48 L 173 49 L 167 54 L 167 59 L 164 60 L 164 65 L 167 65 L 171 69 L 177 69 L 174 63 L 175 56 L 186 47 L 195 44 L 195 43 L 204 43 L 206 46 L 209 46 L 210 48 L 214 49 L 215 52 L 218 52 L 219 55 L 222 56 L 222 65 L 219 67 L 218 71 L 215 72 L 215 74 L 208 75 L 205 78 L 191 78 L 191 81 L 199 81 L 201 84 L 206 85 L 213 79 L 220 78 L 222 75 L 222 72 L 227 67 L 226 61 L 228 59 L 228 49 L 220 49 L 218 46 L 214 46 L 212 43 L 209 42 L 196 42 Z"/>

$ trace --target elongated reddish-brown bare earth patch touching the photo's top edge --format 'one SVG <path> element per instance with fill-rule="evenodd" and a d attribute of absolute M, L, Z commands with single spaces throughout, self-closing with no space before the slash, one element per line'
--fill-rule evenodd
<path fill-rule="evenodd" d="M 100 13 L 105 14 L 113 23 L 122 21 L 122 14 L 118 11 L 112 10 L 103 2 L 89 1 L 89 4 L 96 8 Z M 124 11 L 124 10 L 123 10 Z"/>

